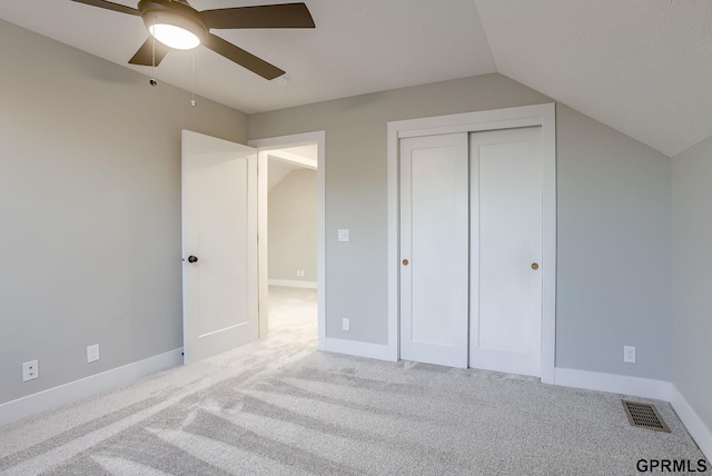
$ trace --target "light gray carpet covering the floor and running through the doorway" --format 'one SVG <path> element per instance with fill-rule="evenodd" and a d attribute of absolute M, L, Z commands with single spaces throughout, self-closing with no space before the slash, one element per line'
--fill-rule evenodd
<path fill-rule="evenodd" d="M 320 353 L 316 292 L 270 294 L 267 338 L 1 428 L 0 474 L 631 475 L 703 459 L 669 404 L 654 401 L 666 434 L 631 427 L 620 395 Z"/>

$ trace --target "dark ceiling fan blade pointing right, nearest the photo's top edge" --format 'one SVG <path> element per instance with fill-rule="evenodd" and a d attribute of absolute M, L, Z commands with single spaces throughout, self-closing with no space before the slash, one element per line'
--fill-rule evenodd
<path fill-rule="evenodd" d="M 315 28 L 304 3 L 204 10 L 200 18 L 209 28 Z"/>

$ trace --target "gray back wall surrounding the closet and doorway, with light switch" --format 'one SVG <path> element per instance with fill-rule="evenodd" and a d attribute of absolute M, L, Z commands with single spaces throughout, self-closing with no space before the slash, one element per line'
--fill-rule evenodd
<path fill-rule="evenodd" d="M 327 336 L 387 341 L 386 123 L 550 101 L 487 75 L 250 116 L 250 139 L 326 130 Z M 669 378 L 669 159 L 566 107 L 557 115 L 557 366 Z M 639 364 L 623 365 L 624 344 Z"/>

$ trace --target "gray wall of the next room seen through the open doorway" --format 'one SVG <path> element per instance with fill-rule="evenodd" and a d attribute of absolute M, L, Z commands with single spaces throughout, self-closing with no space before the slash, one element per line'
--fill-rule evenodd
<path fill-rule="evenodd" d="M 267 207 L 269 279 L 316 282 L 316 170 L 290 171 L 269 191 Z"/>

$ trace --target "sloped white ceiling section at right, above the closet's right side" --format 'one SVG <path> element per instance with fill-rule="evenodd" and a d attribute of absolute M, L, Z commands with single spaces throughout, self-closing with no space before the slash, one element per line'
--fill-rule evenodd
<path fill-rule="evenodd" d="M 712 135 L 712 1 L 475 3 L 501 73 L 669 156 Z"/>

